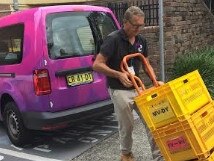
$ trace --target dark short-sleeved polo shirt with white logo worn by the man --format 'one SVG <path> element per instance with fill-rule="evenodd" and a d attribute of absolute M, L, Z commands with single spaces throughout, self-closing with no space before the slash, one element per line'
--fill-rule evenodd
<path fill-rule="evenodd" d="M 101 45 L 100 53 L 108 58 L 107 65 L 117 71 L 121 71 L 120 63 L 123 57 L 128 54 L 142 53 L 145 57 L 148 55 L 146 39 L 142 35 L 135 38 L 132 45 L 123 29 L 117 30 L 109 34 Z M 130 59 L 128 64 L 133 66 L 136 75 L 139 75 L 139 67 L 142 61 L 139 58 Z M 107 77 L 108 86 L 112 89 L 133 89 L 123 86 L 119 79 Z"/>

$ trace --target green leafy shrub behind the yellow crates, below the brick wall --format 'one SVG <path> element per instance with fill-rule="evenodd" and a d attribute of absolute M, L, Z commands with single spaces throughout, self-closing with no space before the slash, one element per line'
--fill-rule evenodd
<path fill-rule="evenodd" d="M 214 98 L 214 47 L 178 55 L 170 69 L 170 79 L 198 70 L 212 98 Z"/>

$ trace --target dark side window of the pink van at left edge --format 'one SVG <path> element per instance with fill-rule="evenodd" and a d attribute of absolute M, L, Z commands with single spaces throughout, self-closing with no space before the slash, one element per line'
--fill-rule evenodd
<path fill-rule="evenodd" d="M 0 29 L 0 65 L 18 64 L 21 62 L 23 34 L 23 24 Z"/>

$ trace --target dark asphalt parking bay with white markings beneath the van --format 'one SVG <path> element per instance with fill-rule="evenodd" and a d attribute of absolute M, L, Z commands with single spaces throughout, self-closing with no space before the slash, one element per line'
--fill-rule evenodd
<path fill-rule="evenodd" d="M 32 142 L 21 148 L 11 144 L 0 122 L 0 161 L 69 161 L 115 134 L 117 127 L 111 114 L 63 130 L 35 131 Z"/>

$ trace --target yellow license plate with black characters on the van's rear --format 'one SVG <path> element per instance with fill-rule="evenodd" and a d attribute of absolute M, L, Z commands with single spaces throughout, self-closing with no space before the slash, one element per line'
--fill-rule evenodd
<path fill-rule="evenodd" d="M 77 86 L 81 84 L 87 84 L 94 81 L 92 72 L 77 73 L 66 76 L 68 86 Z"/>

